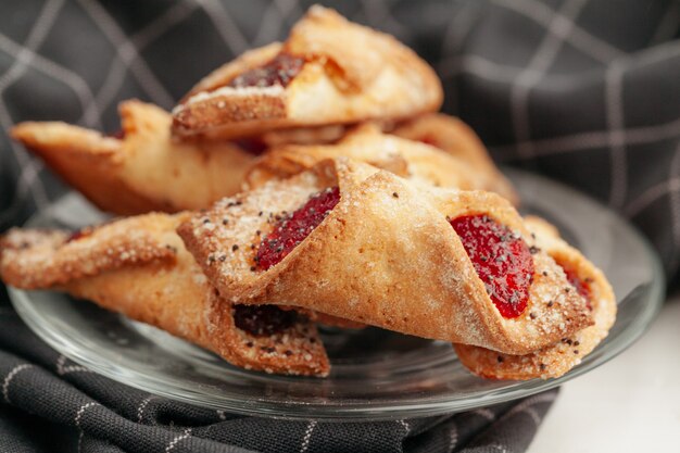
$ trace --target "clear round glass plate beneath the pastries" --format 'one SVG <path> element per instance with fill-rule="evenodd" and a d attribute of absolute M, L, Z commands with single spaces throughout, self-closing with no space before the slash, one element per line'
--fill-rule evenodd
<path fill-rule="evenodd" d="M 452 413 L 527 397 L 602 365 L 633 343 L 657 313 L 663 270 L 646 240 L 621 217 L 539 176 L 508 172 L 522 211 L 546 217 L 608 276 L 618 299 L 609 336 L 558 379 L 484 380 L 450 344 L 380 329 L 325 330 L 326 379 L 273 376 L 230 366 L 153 327 L 52 291 L 11 290 L 24 322 L 68 358 L 148 392 L 205 407 L 282 418 L 396 419 Z M 79 227 L 102 215 L 70 194 L 29 222 Z M 77 219 L 77 222 L 76 222 Z"/>

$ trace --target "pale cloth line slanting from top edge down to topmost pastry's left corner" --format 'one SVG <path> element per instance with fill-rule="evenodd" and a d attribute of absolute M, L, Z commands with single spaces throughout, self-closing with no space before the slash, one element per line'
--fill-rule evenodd
<path fill-rule="evenodd" d="M 128 65 L 130 73 L 139 85 L 151 97 L 154 103 L 169 109 L 174 104 L 173 97 L 147 65 L 135 43 L 125 34 L 106 10 L 96 0 L 78 0 L 86 13 L 111 41 L 119 58 Z"/>

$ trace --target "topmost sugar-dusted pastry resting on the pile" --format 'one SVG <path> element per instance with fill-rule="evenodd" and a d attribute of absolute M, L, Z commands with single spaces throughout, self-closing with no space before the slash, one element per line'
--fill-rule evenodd
<path fill-rule="evenodd" d="M 180 137 L 399 119 L 433 112 L 431 67 L 393 37 L 312 7 L 286 42 L 251 50 L 201 80 L 173 110 Z"/>

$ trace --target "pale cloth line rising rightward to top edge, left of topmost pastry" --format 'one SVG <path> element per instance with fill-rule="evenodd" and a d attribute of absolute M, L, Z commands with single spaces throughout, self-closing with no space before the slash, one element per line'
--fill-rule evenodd
<path fill-rule="evenodd" d="M 147 24 L 141 30 L 137 32 L 129 39 L 137 47 L 138 52 L 141 52 L 147 46 L 152 43 L 155 39 L 163 36 L 173 26 L 185 21 L 193 11 L 199 8 L 198 3 L 184 1 L 169 8 L 165 13 Z M 125 74 L 129 70 L 125 61 L 119 54 L 115 54 L 112 59 L 111 66 L 106 72 L 106 78 L 97 92 L 95 102 L 99 105 L 99 110 L 104 112 L 111 102 L 115 99 L 123 81 L 125 80 Z M 91 105 L 88 105 L 88 109 Z"/>

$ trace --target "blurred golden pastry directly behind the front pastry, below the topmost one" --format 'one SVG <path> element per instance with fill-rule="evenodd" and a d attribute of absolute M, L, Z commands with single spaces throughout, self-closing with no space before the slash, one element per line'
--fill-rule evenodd
<path fill-rule="evenodd" d="M 382 134 L 375 124 L 363 124 L 331 144 L 286 144 L 257 158 L 245 176 L 245 187 L 285 179 L 316 163 L 348 156 L 388 169 L 411 180 L 459 189 L 490 189 L 487 179 L 459 159 L 417 141 Z"/>

